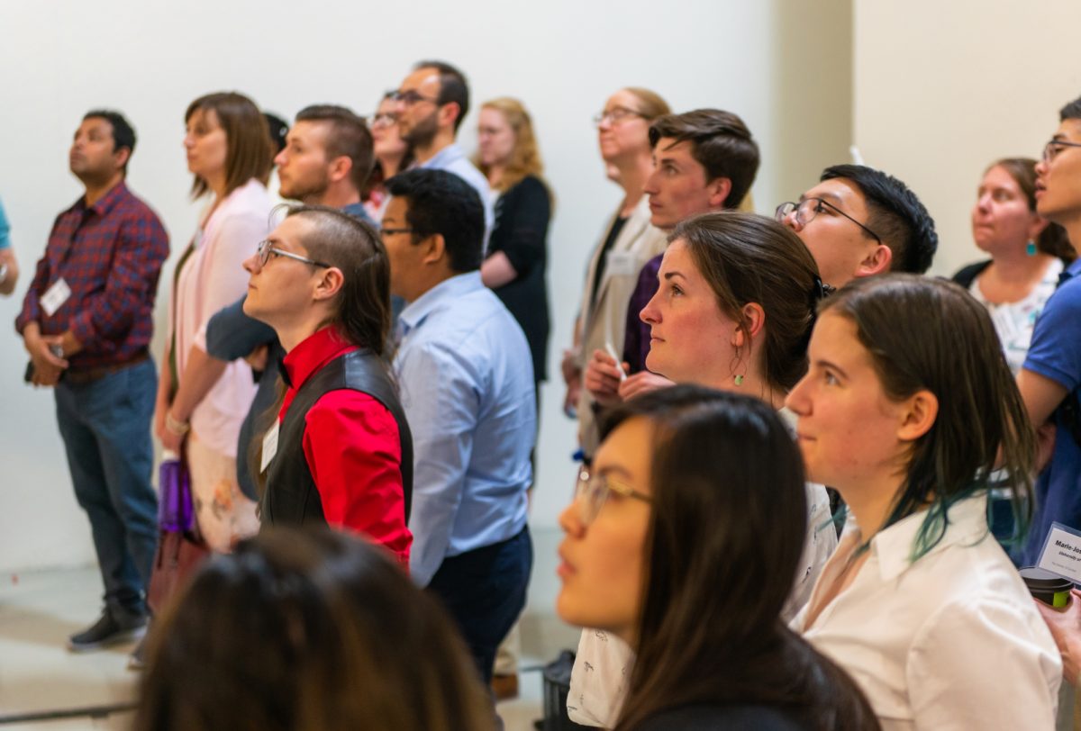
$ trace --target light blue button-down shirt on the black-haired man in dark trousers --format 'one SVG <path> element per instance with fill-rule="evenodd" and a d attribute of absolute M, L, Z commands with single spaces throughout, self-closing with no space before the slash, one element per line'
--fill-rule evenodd
<path fill-rule="evenodd" d="M 413 432 L 413 580 L 443 558 L 525 526 L 536 435 L 533 363 L 521 327 L 480 281 L 458 274 L 402 310 L 395 373 Z"/>

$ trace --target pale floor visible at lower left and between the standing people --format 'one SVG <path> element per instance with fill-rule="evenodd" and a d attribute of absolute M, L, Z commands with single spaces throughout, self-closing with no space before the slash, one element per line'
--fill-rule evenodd
<path fill-rule="evenodd" d="M 536 563 L 521 620 L 520 695 L 498 704 L 507 731 L 532 731 L 542 715 L 540 666 L 577 633 L 552 613 L 556 530 L 533 531 Z M 65 638 L 93 621 L 101 580 L 94 567 L 0 577 L 0 731 L 126 729 L 137 674 L 126 668 L 131 646 L 72 654 Z M 97 714 L 96 716 L 94 714 Z M 69 714 L 65 717 L 66 714 Z"/>

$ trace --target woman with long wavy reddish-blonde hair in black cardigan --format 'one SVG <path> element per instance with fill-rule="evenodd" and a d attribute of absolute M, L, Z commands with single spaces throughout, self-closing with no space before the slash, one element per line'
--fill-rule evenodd
<path fill-rule="evenodd" d="M 501 97 L 480 108 L 473 163 L 496 197 L 495 227 L 481 280 L 522 326 L 533 355 L 533 380 L 547 380 L 548 221 L 551 191 L 533 122 L 522 103 Z"/>

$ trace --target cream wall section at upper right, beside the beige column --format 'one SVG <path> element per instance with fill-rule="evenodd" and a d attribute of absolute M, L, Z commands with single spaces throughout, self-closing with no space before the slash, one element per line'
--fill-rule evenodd
<path fill-rule="evenodd" d="M 987 165 L 1039 158 L 1081 94 L 1079 25 L 1076 0 L 854 3 L 856 143 L 934 217 L 934 273 L 982 258 L 970 212 Z"/>

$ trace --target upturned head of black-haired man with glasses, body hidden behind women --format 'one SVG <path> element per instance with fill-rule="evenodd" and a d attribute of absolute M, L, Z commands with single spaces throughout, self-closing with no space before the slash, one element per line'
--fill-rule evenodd
<path fill-rule="evenodd" d="M 798 203 L 782 203 L 777 220 L 811 251 L 822 281 L 841 287 L 882 272 L 922 274 L 938 235 L 916 194 L 897 178 L 865 165 L 833 165 Z"/>

